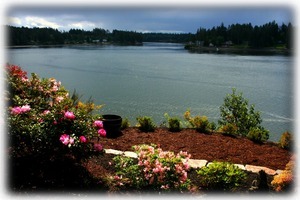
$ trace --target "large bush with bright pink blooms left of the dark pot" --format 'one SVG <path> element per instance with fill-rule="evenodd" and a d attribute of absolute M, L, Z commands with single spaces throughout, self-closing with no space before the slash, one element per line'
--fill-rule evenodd
<path fill-rule="evenodd" d="M 91 103 L 76 102 L 54 78 L 40 79 L 7 65 L 8 128 L 13 154 L 62 150 L 76 155 L 102 150 L 92 139 L 105 136 Z M 100 146 L 101 148 L 100 148 Z M 95 148 L 95 149 L 94 149 Z"/>

